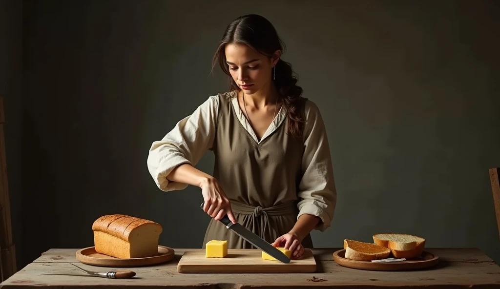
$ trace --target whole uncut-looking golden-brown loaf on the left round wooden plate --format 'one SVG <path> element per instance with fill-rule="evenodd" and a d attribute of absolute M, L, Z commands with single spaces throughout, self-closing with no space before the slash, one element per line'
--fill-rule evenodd
<path fill-rule="evenodd" d="M 95 251 L 116 258 L 158 254 L 160 224 L 124 214 L 103 215 L 92 224 Z"/>

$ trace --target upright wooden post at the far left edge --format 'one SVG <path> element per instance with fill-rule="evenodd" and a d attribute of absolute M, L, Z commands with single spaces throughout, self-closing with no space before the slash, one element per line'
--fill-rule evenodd
<path fill-rule="evenodd" d="M 5 136 L 3 133 L 4 122 L 3 97 L 0 96 L 0 273 L 2 281 L 17 271 L 15 247 L 12 242 L 10 199 L 8 197 Z"/>

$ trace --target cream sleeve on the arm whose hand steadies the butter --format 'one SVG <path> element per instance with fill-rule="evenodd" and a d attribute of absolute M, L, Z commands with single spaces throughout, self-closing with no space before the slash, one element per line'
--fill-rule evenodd
<path fill-rule="evenodd" d="M 297 218 L 302 214 L 317 216 L 315 229 L 324 231 L 331 224 L 336 205 L 330 148 L 324 122 L 318 107 L 310 100 L 305 104 L 304 152 L 302 178 L 298 185 Z"/>

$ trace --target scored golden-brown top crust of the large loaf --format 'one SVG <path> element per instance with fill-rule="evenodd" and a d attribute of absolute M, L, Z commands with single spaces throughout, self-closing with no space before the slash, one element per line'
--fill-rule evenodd
<path fill-rule="evenodd" d="M 157 222 L 124 214 L 103 215 L 93 222 L 92 230 L 105 232 L 128 242 L 133 229 L 148 223 L 158 225 L 161 232 L 162 227 Z"/>

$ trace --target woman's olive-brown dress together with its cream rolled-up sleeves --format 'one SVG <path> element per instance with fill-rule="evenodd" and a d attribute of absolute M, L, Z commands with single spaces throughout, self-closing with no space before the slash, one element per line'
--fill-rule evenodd
<path fill-rule="evenodd" d="M 281 108 L 258 140 L 238 105 L 237 90 L 210 96 L 152 143 L 148 170 L 161 190 L 183 189 L 186 184 L 169 181 L 166 175 L 179 164 L 196 165 L 212 150 L 213 176 L 240 224 L 272 243 L 306 213 L 321 219 L 315 229 L 323 231 L 336 204 L 330 151 L 319 109 L 310 100 L 305 100 L 304 109 L 302 138 L 286 133 L 287 116 Z M 213 218 L 202 247 L 212 239 L 227 240 L 228 248 L 253 247 Z M 312 247 L 309 234 L 302 245 Z"/>

